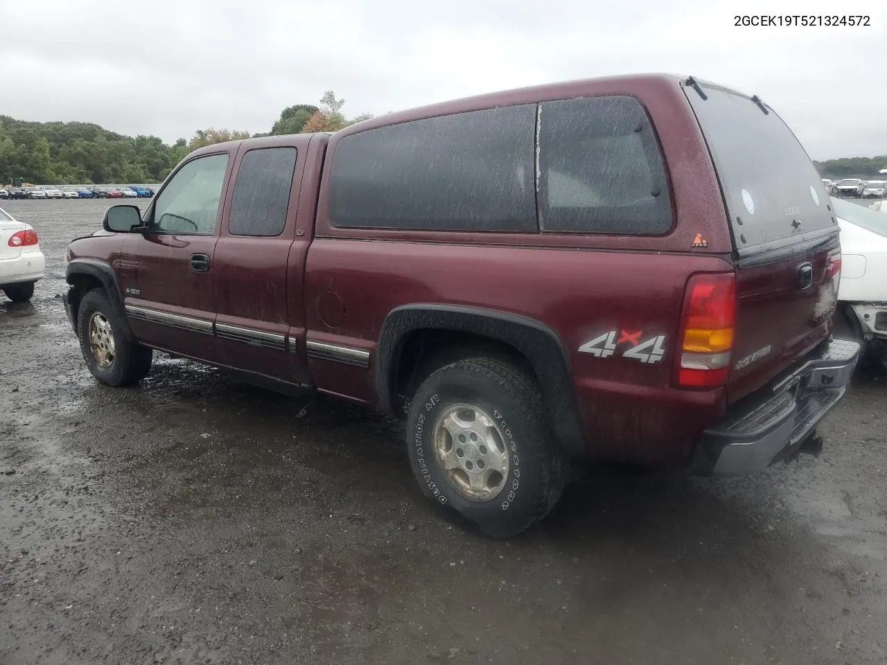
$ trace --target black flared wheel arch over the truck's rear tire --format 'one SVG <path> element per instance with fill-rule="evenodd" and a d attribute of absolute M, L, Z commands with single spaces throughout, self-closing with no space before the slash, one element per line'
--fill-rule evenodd
<path fill-rule="evenodd" d="M 402 363 L 416 335 L 430 333 L 436 348 L 481 350 L 524 364 L 538 380 L 551 414 L 553 435 L 569 457 L 585 454 L 576 392 L 569 356 L 561 338 L 547 325 L 530 317 L 495 309 L 419 303 L 392 309 L 381 326 L 374 362 L 374 383 L 381 407 L 399 416 L 403 407 L 399 387 Z M 443 338 L 443 339 L 442 339 Z M 454 362 L 470 354 L 456 353 Z M 442 357 L 446 358 L 446 351 Z M 444 363 L 445 364 L 445 363 Z M 424 377 L 423 377 L 424 378 Z"/>

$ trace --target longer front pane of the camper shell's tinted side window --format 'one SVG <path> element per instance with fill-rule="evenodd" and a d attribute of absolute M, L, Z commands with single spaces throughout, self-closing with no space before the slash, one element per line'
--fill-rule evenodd
<path fill-rule="evenodd" d="M 333 158 L 334 226 L 537 231 L 536 106 L 456 113 L 344 137 Z"/>

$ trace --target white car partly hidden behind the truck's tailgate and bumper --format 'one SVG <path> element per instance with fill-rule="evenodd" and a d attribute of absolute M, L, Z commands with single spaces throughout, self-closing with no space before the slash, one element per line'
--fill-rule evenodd
<path fill-rule="evenodd" d="M 831 203 L 841 227 L 835 334 L 860 341 L 887 367 L 887 201 Z"/>

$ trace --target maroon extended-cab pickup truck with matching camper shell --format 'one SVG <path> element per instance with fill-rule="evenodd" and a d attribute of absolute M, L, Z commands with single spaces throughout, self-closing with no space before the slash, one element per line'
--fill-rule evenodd
<path fill-rule="evenodd" d="M 838 225 L 757 97 L 633 75 L 201 148 L 67 250 L 90 372 L 161 349 L 407 421 L 422 491 L 510 536 L 572 460 L 793 455 L 859 347 Z"/>

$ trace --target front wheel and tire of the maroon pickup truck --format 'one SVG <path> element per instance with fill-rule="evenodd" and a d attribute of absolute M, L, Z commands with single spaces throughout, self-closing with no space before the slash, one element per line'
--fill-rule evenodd
<path fill-rule="evenodd" d="M 77 337 L 90 373 L 107 386 L 130 386 L 151 371 L 153 351 L 126 339 L 122 321 L 101 289 L 80 301 Z"/>

